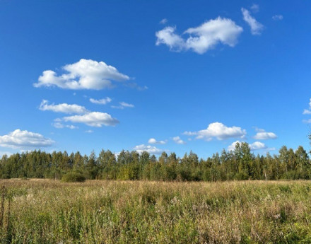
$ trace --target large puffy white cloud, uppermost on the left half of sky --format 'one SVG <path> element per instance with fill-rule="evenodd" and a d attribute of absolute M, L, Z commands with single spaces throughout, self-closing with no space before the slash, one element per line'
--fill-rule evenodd
<path fill-rule="evenodd" d="M 64 89 L 100 90 L 112 87 L 112 81 L 127 81 L 129 76 L 119 73 L 114 66 L 91 59 L 80 59 L 74 64 L 66 64 L 65 74 L 57 75 L 52 70 L 43 71 L 35 87 L 57 86 Z"/>

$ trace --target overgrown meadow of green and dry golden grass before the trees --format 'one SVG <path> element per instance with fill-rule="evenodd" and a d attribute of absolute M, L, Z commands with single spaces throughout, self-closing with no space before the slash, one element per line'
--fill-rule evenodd
<path fill-rule="evenodd" d="M 308 181 L 0 186 L 1 243 L 311 243 Z"/>

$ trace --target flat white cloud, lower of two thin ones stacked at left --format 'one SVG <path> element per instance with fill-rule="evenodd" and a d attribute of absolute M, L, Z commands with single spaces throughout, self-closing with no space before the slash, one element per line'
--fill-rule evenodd
<path fill-rule="evenodd" d="M 89 112 L 85 115 L 63 117 L 62 120 L 74 123 L 83 123 L 91 127 L 115 126 L 119 121 L 105 112 Z"/>

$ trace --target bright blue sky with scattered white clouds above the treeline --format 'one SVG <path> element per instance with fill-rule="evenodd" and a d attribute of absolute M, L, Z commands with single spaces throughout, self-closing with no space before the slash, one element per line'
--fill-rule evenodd
<path fill-rule="evenodd" d="M 310 9 L 0 0 L 0 155 L 309 150 Z"/>

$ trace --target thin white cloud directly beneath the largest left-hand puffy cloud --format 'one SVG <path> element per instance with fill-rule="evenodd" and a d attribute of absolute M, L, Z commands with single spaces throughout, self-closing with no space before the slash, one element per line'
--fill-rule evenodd
<path fill-rule="evenodd" d="M 86 108 L 80 105 L 67 103 L 61 103 L 57 105 L 54 105 L 53 103 L 49 105 L 49 101 L 47 100 L 42 100 L 39 109 L 42 111 L 49 110 L 53 112 L 64 112 L 66 114 L 84 114 L 89 112 Z"/>

